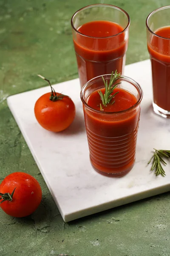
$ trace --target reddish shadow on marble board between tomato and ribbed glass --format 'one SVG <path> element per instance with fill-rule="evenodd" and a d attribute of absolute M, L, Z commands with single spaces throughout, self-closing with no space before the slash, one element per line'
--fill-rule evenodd
<path fill-rule="evenodd" d="M 64 131 L 59 132 L 59 135 L 78 134 L 85 131 L 85 121 L 83 113 L 77 112 L 72 124 Z"/>

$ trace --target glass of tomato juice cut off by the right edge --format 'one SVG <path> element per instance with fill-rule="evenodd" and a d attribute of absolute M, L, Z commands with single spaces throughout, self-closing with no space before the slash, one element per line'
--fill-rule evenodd
<path fill-rule="evenodd" d="M 170 6 L 148 15 L 147 49 L 150 54 L 153 81 L 153 110 L 170 117 Z"/>

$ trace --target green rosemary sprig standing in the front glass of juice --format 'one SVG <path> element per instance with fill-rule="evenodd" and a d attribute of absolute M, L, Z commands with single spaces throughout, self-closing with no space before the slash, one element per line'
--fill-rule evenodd
<path fill-rule="evenodd" d="M 122 76 L 120 75 L 120 73 L 117 73 L 117 70 L 115 71 L 114 75 L 113 75 L 113 71 L 111 73 L 111 79 L 108 85 L 108 80 L 105 81 L 105 79 L 102 76 L 103 82 L 105 84 L 105 93 L 103 94 L 101 90 L 98 91 L 100 98 L 102 100 L 102 104 L 100 103 L 100 110 L 102 111 L 102 105 L 103 106 L 107 106 L 107 104 L 109 104 L 111 102 L 111 100 L 115 97 L 115 95 L 119 92 L 114 93 L 113 95 L 111 95 L 111 93 L 113 93 L 113 90 L 118 86 L 118 84 L 121 83 L 117 83 L 114 86 L 112 86 L 112 84 L 114 84 L 118 79 L 122 78 Z M 111 103 L 113 104 L 115 102 L 115 100 Z"/>

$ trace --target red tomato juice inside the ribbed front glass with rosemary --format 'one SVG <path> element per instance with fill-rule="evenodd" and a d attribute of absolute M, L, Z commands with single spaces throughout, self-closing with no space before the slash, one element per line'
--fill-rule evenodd
<path fill-rule="evenodd" d="M 135 162 L 140 108 L 118 112 L 132 107 L 137 99 L 122 88 L 116 88 L 114 93 L 117 91 L 119 93 L 114 97 L 115 103 L 109 103 L 103 108 L 108 114 L 102 115 L 102 112 L 91 112 L 83 108 L 92 165 L 101 173 L 119 177 L 129 172 Z M 105 92 L 105 88 L 102 92 Z M 87 104 L 99 111 L 100 103 L 102 101 L 96 90 L 88 97 Z"/>

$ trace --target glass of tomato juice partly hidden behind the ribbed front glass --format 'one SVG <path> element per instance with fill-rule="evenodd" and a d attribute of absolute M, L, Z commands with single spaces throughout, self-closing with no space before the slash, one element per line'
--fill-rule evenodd
<path fill-rule="evenodd" d="M 113 70 L 123 74 L 129 25 L 127 12 L 107 4 L 86 6 L 73 15 L 71 26 L 81 87 Z"/>

